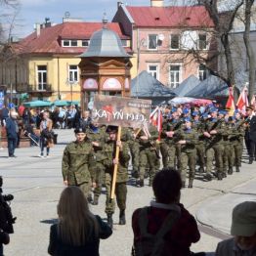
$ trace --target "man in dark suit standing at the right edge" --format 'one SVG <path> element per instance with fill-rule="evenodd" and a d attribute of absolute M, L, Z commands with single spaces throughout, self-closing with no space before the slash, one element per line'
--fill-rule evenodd
<path fill-rule="evenodd" d="M 248 120 L 247 138 L 249 143 L 249 164 L 252 164 L 253 158 L 256 154 L 256 115 L 254 114 L 252 107 L 246 107 L 246 114 Z"/>

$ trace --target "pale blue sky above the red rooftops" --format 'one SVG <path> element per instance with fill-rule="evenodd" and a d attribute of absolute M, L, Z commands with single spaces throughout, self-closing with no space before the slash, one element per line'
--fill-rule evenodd
<path fill-rule="evenodd" d="M 122 2 L 133 6 L 150 5 L 150 0 Z M 70 14 L 70 18 L 80 18 L 83 21 L 102 21 L 106 12 L 107 20 L 111 21 L 116 10 L 117 0 L 21 0 L 14 34 L 17 37 L 30 34 L 34 23 L 42 23 L 45 18 L 53 23 L 61 23 L 66 12 Z"/>

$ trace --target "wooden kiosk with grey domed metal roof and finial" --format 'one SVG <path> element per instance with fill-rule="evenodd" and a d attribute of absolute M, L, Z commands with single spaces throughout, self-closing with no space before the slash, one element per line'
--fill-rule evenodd
<path fill-rule="evenodd" d="M 86 52 L 81 56 L 80 87 L 81 108 L 92 109 L 95 94 L 130 96 L 130 62 L 119 36 L 107 28 L 96 31 Z"/>

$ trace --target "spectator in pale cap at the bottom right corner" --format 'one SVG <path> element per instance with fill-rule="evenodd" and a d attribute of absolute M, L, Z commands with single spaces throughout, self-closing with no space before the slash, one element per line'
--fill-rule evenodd
<path fill-rule="evenodd" d="M 216 256 L 256 255 L 256 201 L 244 201 L 235 206 L 231 235 L 234 237 L 218 243 Z"/>

